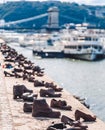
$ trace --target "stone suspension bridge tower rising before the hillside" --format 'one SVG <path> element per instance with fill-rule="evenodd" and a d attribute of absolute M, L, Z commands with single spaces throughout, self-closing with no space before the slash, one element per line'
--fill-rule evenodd
<path fill-rule="evenodd" d="M 48 9 L 48 30 L 59 30 L 59 9 L 51 7 Z"/>

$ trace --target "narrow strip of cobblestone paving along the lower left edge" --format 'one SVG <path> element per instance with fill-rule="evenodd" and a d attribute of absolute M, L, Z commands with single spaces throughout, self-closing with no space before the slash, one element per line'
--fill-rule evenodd
<path fill-rule="evenodd" d="M 0 68 L 0 130 L 14 130 L 12 114 L 6 92 L 3 72 Z"/>

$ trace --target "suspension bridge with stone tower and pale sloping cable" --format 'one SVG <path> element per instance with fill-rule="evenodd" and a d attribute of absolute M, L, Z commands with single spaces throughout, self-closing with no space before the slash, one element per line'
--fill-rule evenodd
<path fill-rule="evenodd" d="M 10 21 L 10 22 L 5 22 L 5 21 L 3 22 L 2 21 L 0 23 L 0 27 L 9 27 L 11 25 L 25 23 L 25 22 L 40 19 L 40 18 L 43 18 L 46 16 L 48 16 L 47 28 L 49 28 L 49 29 L 59 28 L 59 18 L 58 18 L 59 17 L 59 10 L 55 6 L 49 8 L 47 13 L 40 14 L 38 16 L 34 16 L 34 17 L 26 18 L 26 19 L 21 19 L 21 20 L 17 20 L 17 21 Z"/>

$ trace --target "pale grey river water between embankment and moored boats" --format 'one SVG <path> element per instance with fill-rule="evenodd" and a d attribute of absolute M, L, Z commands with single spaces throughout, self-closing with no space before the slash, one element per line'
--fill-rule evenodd
<path fill-rule="evenodd" d="M 35 58 L 29 48 L 22 48 L 16 43 L 10 46 L 36 65 L 44 67 L 45 73 L 68 92 L 86 98 L 93 113 L 105 121 L 105 60 L 39 59 Z"/>

